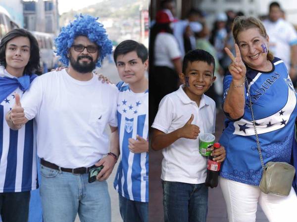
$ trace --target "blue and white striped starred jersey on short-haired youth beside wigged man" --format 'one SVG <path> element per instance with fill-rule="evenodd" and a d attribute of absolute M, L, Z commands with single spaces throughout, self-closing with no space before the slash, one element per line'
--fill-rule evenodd
<path fill-rule="evenodd" d="M 124 82 L 119 89 L 117 118 L 121 162 L 114 180 L 115 189 L 127 199 L 148 202 L 148 152 L 133 153 L 128 139 L 136 135 L 148 139 L 148 90 L 133 93 Z"/>

